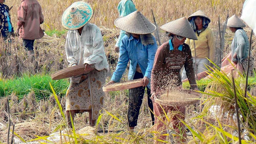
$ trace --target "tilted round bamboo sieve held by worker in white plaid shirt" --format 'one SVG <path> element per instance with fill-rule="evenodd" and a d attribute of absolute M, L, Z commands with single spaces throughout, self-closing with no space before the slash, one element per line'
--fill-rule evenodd
<path fill-rule="evenodd" d="M 73 67 L 65 68 L 62 70 L 59 70 L 53 74 L 51 74 L 52 80 L 60 80 L 65 79 L 72 76 L 78 76 L 82 74 L 89 73 L 90 71 L 84 71 L 85 64 L 79 64 Z"/>

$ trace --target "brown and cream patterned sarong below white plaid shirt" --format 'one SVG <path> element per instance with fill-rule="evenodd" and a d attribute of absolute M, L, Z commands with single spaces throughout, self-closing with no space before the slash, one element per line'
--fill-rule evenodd
<path fill-rule="evenodd" d="M 81 77 L 79 84 L 71 83 L 66 93 L 67 110 L 92 110 L 92 120 L 97 120 L 104 104 L 104 92 L 107 70 L 91 71 Z"/>

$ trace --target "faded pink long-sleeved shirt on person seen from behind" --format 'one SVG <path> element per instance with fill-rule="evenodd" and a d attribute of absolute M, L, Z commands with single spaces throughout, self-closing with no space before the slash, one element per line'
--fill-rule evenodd
<path fill-rule="evenodd" d="M 20 38 L 34 40 L 44 36 L 40 24 L 44 22 L 42 8 L 37 0 L 22 0 L 18 8 L 18 22 Z"/>

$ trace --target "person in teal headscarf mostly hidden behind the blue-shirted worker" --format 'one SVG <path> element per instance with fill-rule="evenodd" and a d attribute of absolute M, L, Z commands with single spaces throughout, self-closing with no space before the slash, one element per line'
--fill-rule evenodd
<path fill-rule="evenodd" d="M 124 17 L 129 15 L 130 13 L 136 11 L 135 5 L 132 0 L 121 0 L 118 4 L 118 12 L 120 17 Z M 123 36 L 125 36 L 125 31 L 121 30 L 119 38 L 115 44 L 115 52 L 119 52 L 120 43 L 122 41 Z"/>

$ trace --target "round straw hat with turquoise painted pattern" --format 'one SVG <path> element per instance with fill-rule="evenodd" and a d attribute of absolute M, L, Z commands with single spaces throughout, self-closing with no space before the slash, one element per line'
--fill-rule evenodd
<path fill-rule="evenodd" d="M 87 2 L 75 2 L 65 10 L 61 23 L 65 29 L 76 30 L 86 25 L 92 15 L 93 9 Z"/>

